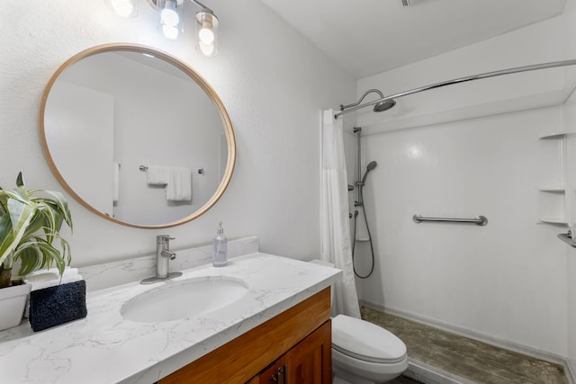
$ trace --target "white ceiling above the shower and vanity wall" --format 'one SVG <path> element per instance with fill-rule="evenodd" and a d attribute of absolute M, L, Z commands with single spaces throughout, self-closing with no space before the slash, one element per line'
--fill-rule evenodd
<path fill-rule="evenodd" d="M 356 78 L 563 13 L 566 0 L 260 0 Z"/>

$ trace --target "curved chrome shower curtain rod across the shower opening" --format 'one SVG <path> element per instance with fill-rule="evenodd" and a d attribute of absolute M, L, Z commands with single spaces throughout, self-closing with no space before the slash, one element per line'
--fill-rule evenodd
<path fill-rule="evenodd" d="M 400 94 L 392 94 L 390 96 L 386 96 L 386 97 L 383 97 L 381 99 L 374 100 L 373 102 L 368 102 L 368 103 L 364 103 L 364 104 L 360 104 L 360 105 L 356 105 L 356 106 L 350 106 L 350 108 L 348 108 L 347 111 L 341 111 L 341 112 L 336 113 L 334 115 L 334 118 L 338 119 L 338 117 L 340 117 L 340 116 L 342 116 L 348 112 L 354 112 L 354 111 L 357 111 L 357 110 L 365 108 L 365 107 L 370 107 L 370 106 L 375 105 L 377 103 L 383 103 L 383 102 L 386 102 L 386 101 L 389 101 L 392 99 L 398 99 L 400 97 L 408 96 L 409 94 L 418 94 L 420 92 L 428 91 L 430 89 L 440 88 L 440 87 L 443 87 L 446 85 L 455 85 L 455 84 L 465 83 L 465 82 L 472 81 L 472 80 L 480 80 L 482 78 L 502 76 L 502 75 L 510 75 L 510 74 L 516 74 L 519 72 L 534 71 L 536 69 L 567 67 L 567 66 L 574 66 L 574 65 L 576 65 L 576 59 L 570 59 L 570 60 L 563 60 L 563 61 L 553 61 L 550 63 L 535 64 L 532 66 L 514 67 L 514 68 L 509 68 L 509 69 L 502 69 L 500 71 L 486 72 L 483 74 L 478 74 L 478 75 L 473 75 L 473 76 L 460 77 L 460 78 L 456 78 L 453 80 L 447 80 L 447 81 L 443 81 L 441 83 L 436 83 L 433 85 L 421 86 L 419 88 L 411 89 L 410 91 L 401 92 Z M 370 92 L 370 91 L 368 91 L 368 92 Z M 362 98 L 364 98 L 365 95 Z M 360 99 L 361 101 L 362 101 L 362 98 Z M 354 104 L 350 104 L 350 105 L 354 105 Z"/>

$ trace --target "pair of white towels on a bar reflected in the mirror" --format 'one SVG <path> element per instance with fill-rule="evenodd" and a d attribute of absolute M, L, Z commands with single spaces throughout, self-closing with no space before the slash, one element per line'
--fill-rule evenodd
<path fill-rule="evenodd" d="M 180 166 L 148 165 L 146 182 L 166 184 L 166 200 L 192 200 L 192 169 Z"/>

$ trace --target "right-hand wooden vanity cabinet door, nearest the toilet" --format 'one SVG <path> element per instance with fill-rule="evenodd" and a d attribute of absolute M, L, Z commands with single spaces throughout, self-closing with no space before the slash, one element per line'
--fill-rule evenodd
<path fill-rule="evenodd" d="M 286 353 L 286 384 L 332 382 L 332 338 L 329 321 Z"/>

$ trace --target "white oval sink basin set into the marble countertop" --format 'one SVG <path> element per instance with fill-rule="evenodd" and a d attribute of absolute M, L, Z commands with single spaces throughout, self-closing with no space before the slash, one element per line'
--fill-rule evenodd
<path fill-rule="evenodd" d="M 246 281 L 220 276 L 169 281 L 126 301 L 120 313 L 138 323 L 198 317 L 228 306 L 247 291 Z"/>

